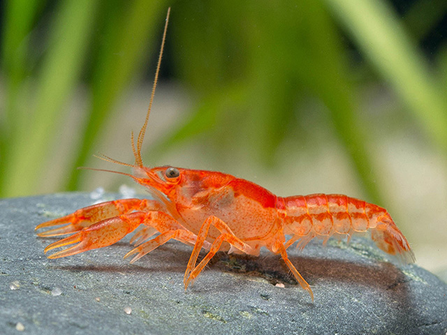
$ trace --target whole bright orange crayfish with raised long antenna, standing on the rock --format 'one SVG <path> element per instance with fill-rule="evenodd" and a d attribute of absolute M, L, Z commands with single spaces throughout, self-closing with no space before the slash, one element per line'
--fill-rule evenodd
<path fill-rule="evenodd" d="M 133 174 L 116 173 L 126 174 L 145 186 L 152 199 L 124 199 L 94 204 L 38 225 L 36 230 L 63 225 L 38 233 L 40 237 L 75 233 L 47 246 L 45 253 L 75 244 L 53 253 L 49 258 L 110 246 L 144 225 L 131 239 L 135 248 L 124 257 L 136 254 L 131 260 L 135 262 L 170 239 L 192 244 L 194 248 L 184 274 L 185 289 L 217 251 L 259 255 L 261 247 L 265 247 L 281 255 L 312 300 L 314 296 L 309 284 L 287 256 L 287 248 L 295 241 L 298 241 L 300 248 L 304 248 L 314 237 L 327 241 L 332 235 L 349 238 L 352 234 L 370 231 L 372 239 L 383 251 L 397 255 L 404 262 L 414 262 L 409 243 L 390 214 L 375 204 L 334 194 L 281 198 L 230 174 L 172 166 L 144 166 L 141 147 L 154 98 L 168 17 L 149 109 L 136 147 L 133 134 L 131 137 L 135 163 L 131 165 L 102 157 L 105 161 L 133 168 Z M 156 232 L 159 235 L 150 239 Z M 288 241 L 286 235 L 291 235 Z M 202 248 L 208 253 L 196 265 Z"/>

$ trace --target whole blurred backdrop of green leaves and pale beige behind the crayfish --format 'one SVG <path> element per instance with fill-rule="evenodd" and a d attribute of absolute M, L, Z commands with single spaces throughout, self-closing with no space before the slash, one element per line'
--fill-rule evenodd
<path fill-rule="evenodd" d="M 145 163 L 374 202 L 447 269 L 445 0 L 2 1 L 0 198 L 131 183 L 76 168 L 133 163 L 168 6 Z"/>

